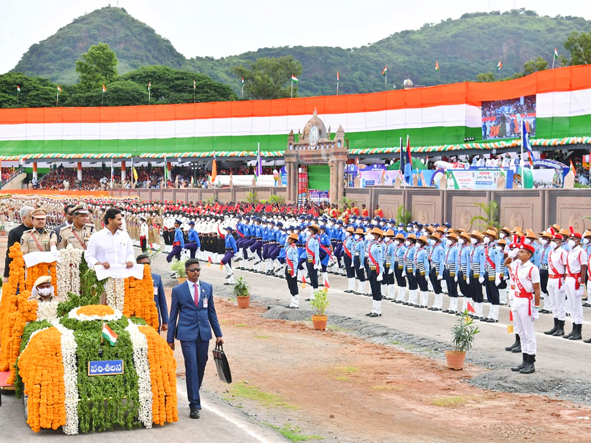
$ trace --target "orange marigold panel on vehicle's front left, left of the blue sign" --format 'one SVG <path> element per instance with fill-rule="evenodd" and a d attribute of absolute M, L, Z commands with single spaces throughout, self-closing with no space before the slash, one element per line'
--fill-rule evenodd
<path fill-rule="evenodd" d="M 39 364 L 43 361 L 43 365 Z M 61 357 L 61 333 L 44 329 L 33 337 L 18 360 L 19 374 L 29 396 L 27 424 L 35 432 L 66 424 L 66 390 Z"/>

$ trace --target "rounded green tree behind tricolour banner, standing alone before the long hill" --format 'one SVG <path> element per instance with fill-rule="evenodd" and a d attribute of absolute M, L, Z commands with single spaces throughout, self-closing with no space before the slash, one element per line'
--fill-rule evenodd
<path fill-rule="evenodd" d="M 291 95 L 291 75 L 301 74 L 301 63 L 293 57 L 261 57 L 248 66 L 236 66 L 233 73 L 244 79 L 246 99 L 282 99 Z M 297 83 L 294 84 L 294 97 Z"/>

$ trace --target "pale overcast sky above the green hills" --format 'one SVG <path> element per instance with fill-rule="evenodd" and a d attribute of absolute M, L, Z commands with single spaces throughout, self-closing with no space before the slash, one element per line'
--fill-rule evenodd
<path fill-rule="evenodd" d="M 31 45 L 108 1 L 1 0 L 1 4 L 0 73 L 5 73 Z M 170 40 L 187 58 L 219 58 L 285 45 L 359 47 L 397 31 L 475 11 L 524 7 L 539 15 L 591 19 L 591 2 L 583 0 L 112 0 L 111 6 L 116 5 Z"/>

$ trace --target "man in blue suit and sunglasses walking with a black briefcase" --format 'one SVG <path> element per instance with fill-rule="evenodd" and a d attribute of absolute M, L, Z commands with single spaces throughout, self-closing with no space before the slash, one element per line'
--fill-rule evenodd
<path fill-rule="evenodd" d="M 185 271 L 187 281 L 173 288 L 166 341 L 172 350 L 174 350 L 175 338 L 181 342 L 185 361 L 187 397 L 191 409 L 189 416 L 199 418 L 201 409 L 199 389 L 203 383 L 212 329 L 216 335 L 216 344 L 223 344 L 223 339 L 213 306 L 212 285 L 199 279 L 201 272 L 199 260 L 187 260 Z"/>

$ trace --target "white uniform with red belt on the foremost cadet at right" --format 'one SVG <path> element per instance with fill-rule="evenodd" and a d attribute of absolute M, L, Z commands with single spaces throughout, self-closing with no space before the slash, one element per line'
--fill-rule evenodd
<path fill-rule="evenodd" d="M 515 284 L 515 294 L 511 303 L 515 333 L 521 340 L 521 351 L 525 354 L 535 355 L 536 340 L 534 331 L 534 284 L 540 283 L 540 270 L 529 260 L 521 263 L 515 259 L 511 263 L 511 273 Z M 519 289 L 522 286 L 525 294 Z M 531 297 L 525 297 L 525 295 Z"/>

